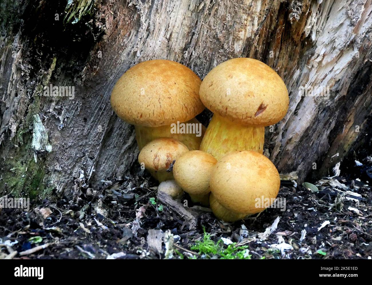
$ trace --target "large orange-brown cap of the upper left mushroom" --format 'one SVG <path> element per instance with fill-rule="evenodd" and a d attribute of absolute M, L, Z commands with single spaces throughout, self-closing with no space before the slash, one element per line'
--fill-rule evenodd
<path fill-rule="evenodd" d="M 204 110 L 201 80 L 186 66 L 170 60 L 141 62 L 122 75 L 111 93 L 111 106 L 122 120 L 159 127 L 185 122 Z"/>

